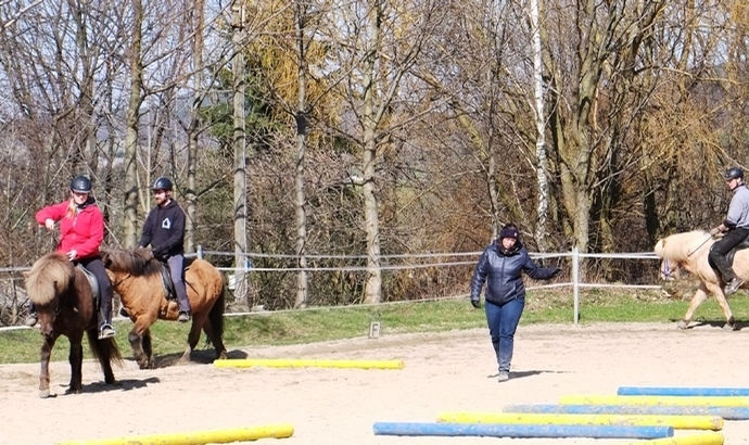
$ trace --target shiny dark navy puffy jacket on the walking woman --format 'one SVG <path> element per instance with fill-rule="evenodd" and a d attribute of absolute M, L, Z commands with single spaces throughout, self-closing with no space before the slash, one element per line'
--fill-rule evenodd
<path fill-rule="evenodd" d="M 484 250 L 475 265 L 471 280 L 471 300 L 480 300 L 484 283 L 485 298 L 488 302 L 502 305 L 513 298 L 524 297 L 522 271 L 535 280 L 546 280 L 554 277 L 556 270 L 556 267 L 536 265 L 520 241 L 509 252 L 503 252 L 497 242 L 494 242 Z"/>

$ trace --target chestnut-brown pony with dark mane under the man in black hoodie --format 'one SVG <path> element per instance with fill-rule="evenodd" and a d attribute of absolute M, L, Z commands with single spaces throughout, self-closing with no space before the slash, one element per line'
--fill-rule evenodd
<path fill-rule="evenodd" d="M 162 320 L 177 320 L 176 301 L 166 298 L 162 280 L 162 264 L 149 250 L 103 249 L 102 260 L 119 294 L 123 306 L 134 322 L 128 340 L 132 355 L 141 369 L 153 368 L 153 349 L 149 328 Z M 203 259 L 185 258 L 185 283 L 192 309 L 192 327 L 182 360 L 190 359 L 200 341 L 201 329 L 216 348 L 216 358 L 226 358 L 224 347 L 224 279 L 221 274 Z"/>

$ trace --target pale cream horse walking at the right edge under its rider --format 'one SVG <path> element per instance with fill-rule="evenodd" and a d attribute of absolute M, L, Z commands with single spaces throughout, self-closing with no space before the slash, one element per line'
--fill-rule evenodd
<path fill-rule="evenodd" d="M 672 234 L 663 238 L 656 244 L 656 255 L 663 258 L 661 262 L 661 278 L 668 279 L 670 275 L 676 274 L 680 268 L 683 268 L 700 281 L 700 285 L 691 297 L 684 319 L 678 322 L 680 329 L 686 329 L 689 326 L 691 316 L 695 315 L 697 307 L 707 300 L 708 294 L 715 296 L 721 310 L 723 310 L 726 321 L 723 329 L 732 331 L 736 329 L 734 315 L 731 312 L 728 302 L 725 300 L 725 293 L 723 293 L 725 282 L 708 263 L 710 246 L 715 241 L 715 238 L 710 233 L 702 230 L 694 230 Z M 734 271 L 745 280 L 749 278 L 749 251 L 740 250 L 736 252 L 734 256 Z"/>

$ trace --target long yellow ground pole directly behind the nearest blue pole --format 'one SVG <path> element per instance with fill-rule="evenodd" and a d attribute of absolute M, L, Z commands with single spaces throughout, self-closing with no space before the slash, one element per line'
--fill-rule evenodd
<path fill-rule="evenodd" d="M 713 431 L 723 429 L 723 418 L 720 416 L 441 412 L 437 415 L 437 422 L 672 427 L 674 430 Z"/>

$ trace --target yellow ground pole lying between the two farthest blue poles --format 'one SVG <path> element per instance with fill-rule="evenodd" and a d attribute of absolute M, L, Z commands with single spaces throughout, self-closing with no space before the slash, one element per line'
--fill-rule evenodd
<path fill-rule="evenodd" d="M 640 405 L 640 406 L 732 406 L 749 407 L 749 397 L 677 395 L 564 395 L 561 405 Z"/>

